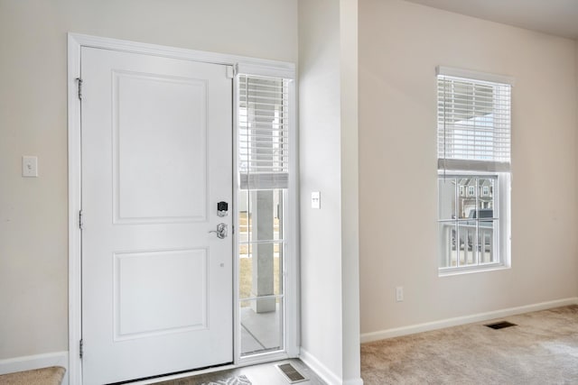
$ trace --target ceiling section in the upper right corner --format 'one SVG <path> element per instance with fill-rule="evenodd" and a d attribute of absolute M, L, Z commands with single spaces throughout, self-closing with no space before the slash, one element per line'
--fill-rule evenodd
<path fill-rule="evenodd" d="M 578 0 L 406 0 L 578 40 Z"/>

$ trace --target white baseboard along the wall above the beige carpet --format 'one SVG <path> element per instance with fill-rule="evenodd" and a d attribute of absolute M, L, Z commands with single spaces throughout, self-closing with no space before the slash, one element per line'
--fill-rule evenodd
<path fill-rule="evenodd" d="M 408 325 L 396 327 L 393 329 L 379 330 L 378 332 L 364 333 L 360 336 L 360 340 L 361 344 L 370 343 L 373 341 L 385 340 L 387 338 L 398 337 L 401 335 L 414 335 L 415 333 L 429 332 L 431 330 L 443 329 L 444 327 L 466 325 L 474 322 L 488 321 L 490 319 L 500 318 L 503 316 L 514 316 L 532 311 L 577 304 L 578 298 L 564 298 L 523 307 L 510 307 L 506 309 L 490 311 L 487 313 L 474 314 L 471 316 L 458 316 L 455 318 L 447 318 L 440 321 L 427 322 L 424 324 Z"/>

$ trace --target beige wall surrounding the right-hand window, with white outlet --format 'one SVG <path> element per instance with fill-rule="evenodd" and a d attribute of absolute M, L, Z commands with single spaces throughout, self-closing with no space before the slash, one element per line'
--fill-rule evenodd
<path fill-rule="evenodd" d="M 359 2 L 362 334 L 578 296 L 575 62 L 570 40 Z M 438 65 L 516 79 L 511 269 L 438 277 Z"/>

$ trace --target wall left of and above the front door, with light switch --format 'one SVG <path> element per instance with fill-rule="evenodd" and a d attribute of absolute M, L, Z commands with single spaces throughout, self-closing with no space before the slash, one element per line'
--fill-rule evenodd
<path fill-rule="evenodd" d="M 296 62 L 297 2 L 0 0 L 0 359 L 68 350 L 67 32 Z"/>

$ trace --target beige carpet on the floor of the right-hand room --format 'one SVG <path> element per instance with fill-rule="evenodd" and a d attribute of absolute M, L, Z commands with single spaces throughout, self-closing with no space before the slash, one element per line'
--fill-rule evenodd
<path fill-rule="evenodd" d="M 365 385 L 578 384 L 578 306 L 361 345 Z"/>

